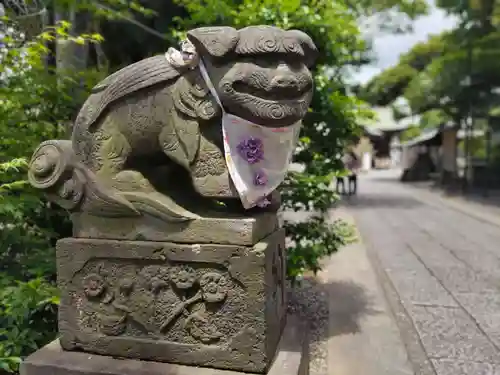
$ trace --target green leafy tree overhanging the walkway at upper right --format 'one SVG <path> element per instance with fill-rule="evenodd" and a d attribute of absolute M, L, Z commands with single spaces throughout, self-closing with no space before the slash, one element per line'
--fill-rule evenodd
<path fill-rule="evenodd" d="M 437 5 L 460 19 L 451 31 L 419 43 L 398 64 L 375 77 L 362 97 L 388 105 L 404 97 L 422 126 L 459 123 L 471 110 L 487 117 L 498 107 L 500 5 L 493 0 L 442 0 Z"/>

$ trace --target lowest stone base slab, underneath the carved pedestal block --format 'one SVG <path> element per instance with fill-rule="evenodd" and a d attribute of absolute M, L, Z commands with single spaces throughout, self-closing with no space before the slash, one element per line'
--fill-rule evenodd
<path fill-rule="evenodd" d="M 289 316 L 277 355 L 267 375 L 309 375 L 309 342 L 305 325 Z M 119 359 L 84 352 L 64 351 L 59 340 L 29 356 L 21 375 L 249 375 L 212 368 Z"/>

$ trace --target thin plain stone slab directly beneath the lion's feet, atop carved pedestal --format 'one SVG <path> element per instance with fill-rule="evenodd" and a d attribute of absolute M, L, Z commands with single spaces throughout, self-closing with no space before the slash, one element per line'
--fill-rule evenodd
<path fill-rule="evenodd" d="M 73 237 L 128 241 L 216 243 L 252 246 L 280 227 L 275 213 L 250 217 L 202 217 L 187 222 L 165 222 L 152 216 L 132 218 L 73 214 Z"/>

